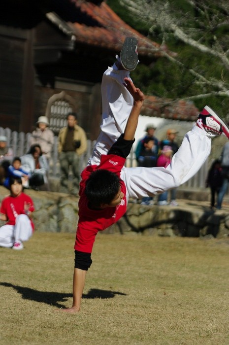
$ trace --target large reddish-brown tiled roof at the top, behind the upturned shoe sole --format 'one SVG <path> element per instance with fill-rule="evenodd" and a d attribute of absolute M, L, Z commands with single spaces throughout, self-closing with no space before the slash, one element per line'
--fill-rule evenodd
<path fill-rule="evenodd" d="M 105 1 L 98 5 L 86 0 L 71 0 L 71 2 L 74 3 L 77 13 L 77 20 L 74 23 L 68 21 L 66 25 L 66 22 L 54 13 L 47 13 L 47 17 L 66 35 L 71 37 L 74 35 L 72 39 L 76 43 L 119 51 L 126 36 L 135 36 L 138 39 L 139 56 L 159 57 L 166 49 L 131 28 Z"/>

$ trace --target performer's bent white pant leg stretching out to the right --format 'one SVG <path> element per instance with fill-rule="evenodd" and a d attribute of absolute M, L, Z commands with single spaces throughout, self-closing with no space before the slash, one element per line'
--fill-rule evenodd
<path fill-rule="evenodd" d="M 207 132 L 196 125 L 188 132 L 165 169 L 123 168 L 121 178 L 127 187 L 127 196 L 141 198 L 154 196 L 170 188 L 178 187 L 193 177 L 203 165 L 211 150 L 211 139 Z"/>

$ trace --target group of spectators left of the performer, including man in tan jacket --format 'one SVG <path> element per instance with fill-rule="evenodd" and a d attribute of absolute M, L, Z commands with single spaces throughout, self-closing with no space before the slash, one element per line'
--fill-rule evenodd
<path fill-rule="evenodd" d="M 58 152 L 60 162 L 60 192 L 78 195 L 80 181 L 79 158 L 87 149 L 86 133 L 77 124 L 77 114 L 66 116 L 67 126 L 60 130 Z M 0 185 L 9 189 L 10 177 L 21 177 L 23 188 L 49 190 L 48 173 L 54 145 L 54 133 L 46 116 L 40 116 L 37 127 L 29 137 L 29 150 L 17 157 L 0 136 Z M 69 168 L 72 169 L 72 188 L 68 189 Z"/>

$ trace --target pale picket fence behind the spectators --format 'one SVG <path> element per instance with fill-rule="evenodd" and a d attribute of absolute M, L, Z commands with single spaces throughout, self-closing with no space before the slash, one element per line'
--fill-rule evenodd
<path fill-rule="evenodd" d="M 22 156 L 23 154 L 27 153 L 29 150 L 29 138 L 31 133 L 23 133 L 23 132 L 12 132 L 9 128 L 3 129 L 0 127 L 0 135 L 4 135 L 7 137 L 7 144 L 9 147 L 13 149 L 14 156 Z M 82 171 L 85 166 L 87 165 L 87 161 L 91 156 L 93 146 L 95 141 L 88 140 L 88 147 L 87 152 L 81 156 L 80 160 L 80 170 Z M 135 154 L 133 150 L 131 150 L 130 155 L 127 158 L 126 162 L 127 167 L 136 167 L 137 161 L 135 159 Z M 196 173 L 196 175 L 191 178 L 188 182 L 183 184 L 183 186 L 188 188 L 204 188 L 205 187 L 205 180 L 208 172 L 208 163 L 207 161 L 204 163 L 202 168 Z M 49 170 L 50 177 L 60 177 L 60 164 L 58 160 L 58 137 L 54 137 L 54 145 L 50 160 L 50 170 Z"/>

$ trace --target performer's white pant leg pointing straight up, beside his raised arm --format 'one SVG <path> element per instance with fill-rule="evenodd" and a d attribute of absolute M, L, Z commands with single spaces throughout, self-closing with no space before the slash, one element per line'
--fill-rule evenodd
<path fill-rule="evenodd" d="M 101 154 L 106 154 L 125 130 L 131 113 L 133 98 L 123 85 L 124 78 L 130 78 L 127 70 L 108 67 L 102 76 L 102 121 L 100 134 L 88 164 L 98 165 Z"/>

